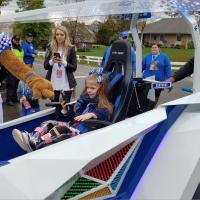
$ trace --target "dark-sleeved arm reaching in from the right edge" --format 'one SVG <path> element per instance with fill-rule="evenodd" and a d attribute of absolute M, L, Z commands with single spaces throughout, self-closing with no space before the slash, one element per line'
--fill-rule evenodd
<path fill-rule="evenodd" d="M 180 81 L 194 72 L 194 58 L 189 60 L 183 65 L 174 75 L 170 78 L 172 82 Z"/>

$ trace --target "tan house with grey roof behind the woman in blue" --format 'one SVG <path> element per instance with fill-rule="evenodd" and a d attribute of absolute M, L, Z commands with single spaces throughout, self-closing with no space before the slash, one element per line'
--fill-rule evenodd
<path fill-rule="evenodd" d="M 189 27 L 182 18 L 162 19 L 147 24 L 143 34 L 145 46 L 157 43 L 162 47 L 193 48 Z"/>

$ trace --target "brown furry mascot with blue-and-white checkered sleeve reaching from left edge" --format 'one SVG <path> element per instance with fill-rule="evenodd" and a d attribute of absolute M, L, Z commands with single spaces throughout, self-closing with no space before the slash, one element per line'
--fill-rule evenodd
<path fill-rule="evenodd" d="M 0 63 L 18 79 L 24 81 L 33 91 L 33 96 L 39 98 L 53 98 L 51 83 L 36 74 L 32 68 L 23 64 L 12 52 L 12 44 L 6 33 L 0 34 Z M 0 94 L 0 123 L 3 122 L 2 98 Z"/>

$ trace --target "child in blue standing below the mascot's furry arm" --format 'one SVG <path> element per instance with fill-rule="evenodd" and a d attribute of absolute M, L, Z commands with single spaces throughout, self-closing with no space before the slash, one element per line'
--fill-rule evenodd
<path fill-rule="evenodd" d="M 23 81 L 19 82 L 17 96 L 22 104 L 22 116 L 30 115 L 40 111 L 38 99 L 33 97 L 31 89 Z"/>

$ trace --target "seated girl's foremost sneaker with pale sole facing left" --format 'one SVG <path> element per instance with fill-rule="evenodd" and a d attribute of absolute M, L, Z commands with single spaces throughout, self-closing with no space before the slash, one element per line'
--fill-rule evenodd
<path fill-rule="evenodd" d="M 27 152 L 33 151 L 29 144 L 29 133 L 28 132 L 22 132 L 18 129 L 13 129 L 12 136 L 14 140 L 17 142 L 17 144 Z"/>

